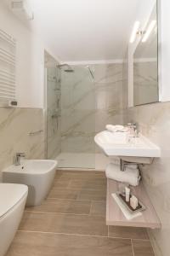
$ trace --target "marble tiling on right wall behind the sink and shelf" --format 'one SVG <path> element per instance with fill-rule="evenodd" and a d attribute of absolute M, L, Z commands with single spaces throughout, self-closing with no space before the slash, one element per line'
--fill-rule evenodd
<path fill-rule="evenodd" d="M 161 230 L 150 230 L 156 256 L 170 251 L 170 102 L 128 108 L 124 122 L 134 120 L 139 130 L 161 148 L 161 158 L 142 168 L 144 185 L 161 220 Z"/>

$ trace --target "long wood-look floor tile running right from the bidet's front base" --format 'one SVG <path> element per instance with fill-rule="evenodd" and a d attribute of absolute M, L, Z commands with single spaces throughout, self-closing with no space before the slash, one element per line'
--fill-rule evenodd
<path fill-rule="evenodd" d="M 42 203 L 41 206 L 27 207 L 26 211 L 89 214 L 90 207 L 90 201 L 75 201 L 48 198 Z"/>

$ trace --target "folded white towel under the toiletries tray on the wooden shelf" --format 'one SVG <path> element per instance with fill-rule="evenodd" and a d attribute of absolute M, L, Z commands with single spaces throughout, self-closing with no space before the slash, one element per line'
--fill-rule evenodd
<path fill-rule="evenodd" d="M 127 218 L 127 220 L 131 220 L 133 218 L 137 218 L 142 215 L 142 212 L 135 212 L 135 213 L 128 212 L 127 208 L 123 205 L 122 201 L 116 195 L 116 193 L 111 194 L 111 196 L 114 198 L 117 206 L 122 210 L 122 213 L 125 216 L 125 218 Z"/>

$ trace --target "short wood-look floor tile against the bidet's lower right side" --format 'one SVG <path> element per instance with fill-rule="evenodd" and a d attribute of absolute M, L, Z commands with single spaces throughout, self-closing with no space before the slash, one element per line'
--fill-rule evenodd
<path fill-rule="evenodd" d="M 48 194 L 48 198 L 77 199 L 79 189 L 57 189 L 53 188 Z"/>

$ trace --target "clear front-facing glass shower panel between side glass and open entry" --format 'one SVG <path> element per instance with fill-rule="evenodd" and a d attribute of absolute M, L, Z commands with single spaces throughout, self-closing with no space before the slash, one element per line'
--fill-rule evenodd
<path fill-rule="evenodd" d="M 61 155 L 66 168 L 95 168 L 94 81 L 87 67 L 61 71 Z"/>

